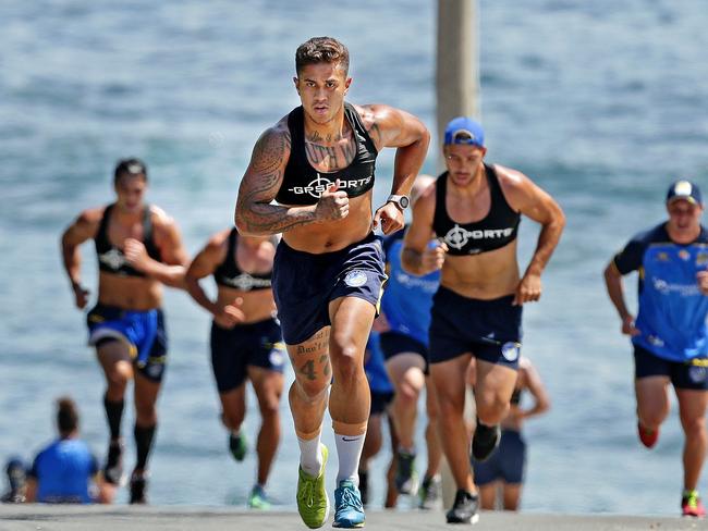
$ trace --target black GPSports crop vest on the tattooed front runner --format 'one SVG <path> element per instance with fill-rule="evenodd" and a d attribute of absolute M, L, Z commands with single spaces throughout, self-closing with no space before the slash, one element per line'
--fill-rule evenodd
<path fill-rule="evenodd" d="M 349 197 L 357 197 L 374 186 L 376 156 L 374 140 L 362 123 L 358 112 L 344 103 L 344 119 L 349 122 L 356 141 L 356 155 L 352 163 L 337 172 L 320 173 L 307 160 L 305 151 L 305 111 L 302 106 L 288 115 L 288 128 L 292 140 L 290 159 L 276 200 L 281 205 L 315 205 L 327 187 L 340 180 L 341 190 Z"/>

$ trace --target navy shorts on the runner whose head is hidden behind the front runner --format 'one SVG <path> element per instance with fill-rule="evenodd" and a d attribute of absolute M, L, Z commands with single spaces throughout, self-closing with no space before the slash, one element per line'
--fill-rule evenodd
<path fill-rule="evenodd" d="M 233 329 L 211 322 L 211 368 L 219 393 L 239 387 L 248 376 L 247 367 L 283 372 L 285 345 L 274 319 Z"/>

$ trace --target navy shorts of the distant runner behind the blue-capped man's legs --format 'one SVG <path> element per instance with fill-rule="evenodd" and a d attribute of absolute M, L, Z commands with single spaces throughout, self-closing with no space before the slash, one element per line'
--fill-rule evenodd
<path fill-rule="evenodd" d="M 487 485 L 497 480 L 505 483 L 520 484 L 524 482 L 526 468 L 526 442 L 521 433 L 514 430 L 502 430 L 499 447 L 491 453 L 486 461 L 472 460 L 475 472 L 475 484 Z"/>

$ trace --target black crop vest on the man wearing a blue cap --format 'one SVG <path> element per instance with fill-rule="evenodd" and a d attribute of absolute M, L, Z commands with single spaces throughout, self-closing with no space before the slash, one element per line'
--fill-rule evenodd
<path fill-rule="evenodd" d="M 463 224 L 455 223 L 448 215 L 445 208 L 448 172 L 438 177 L 432 229 L 448 244 L 450 255 L 479 255 L 500 249 L 516 239 L 521 214 L 506 202 L 495 169 L 485 164 L 485 174 L 491 195 L 489 213 L 479 221 Z"/>

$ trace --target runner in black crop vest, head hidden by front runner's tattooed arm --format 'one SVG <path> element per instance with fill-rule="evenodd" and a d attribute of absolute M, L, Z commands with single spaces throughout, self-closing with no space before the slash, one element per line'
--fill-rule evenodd
<path fill-rule="evenodd" d="M 190 295 L 213 316 L 211 366 L 221 399 L 221 421 L 229 430 L 229 448 L 237 461 L 246 455 L 242 423 L 246 416 L 246 380 L 258 399 L 263 423 L 258 433 L 258 477 L 248 506 L 267 509 L 266 483 L 280 442 L 280 396 L 283 392 L 285 345 L 274 318 L 271 289 L 277 236 L 240 236 L 235 229 L 209 239 L 190 264 Z M 199 280 L 213 274 L 218 285 L 210 300 Z"/>

